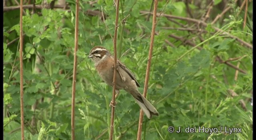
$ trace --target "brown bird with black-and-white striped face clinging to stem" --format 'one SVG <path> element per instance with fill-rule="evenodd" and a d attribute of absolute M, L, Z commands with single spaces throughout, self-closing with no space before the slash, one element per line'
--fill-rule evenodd
<path fill-rule="evenodd" d="M 103 81 L 109 86 L 113 86 L 114 56 L 109 50 L 102 46 L 95 46 L 90 50 L 88 58 L 94 62 L 94 66 Z M 133 96 L 147 118 L 150 119 L 152 115 L 158 116 L 159 113 L 156 108 L 138 91 L 140 85 L 134 74 L 120 60 L 117 59 L 116 62 L 116 96 L 123 89 Z"/>

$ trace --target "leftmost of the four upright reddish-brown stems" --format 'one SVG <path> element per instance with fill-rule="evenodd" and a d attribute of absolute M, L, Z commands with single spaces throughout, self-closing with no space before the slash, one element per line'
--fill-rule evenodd
<path fill-rule="evenodd" d="M 23 0 L 20 0 L 20 123 L 21 123 L 21 140 L 24 140 L 24 111 L 23 111 L 23 31 L 22 31 L 22 14 Z"/>

